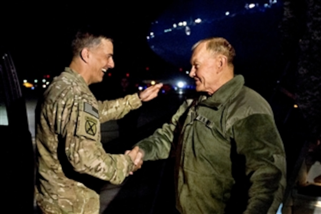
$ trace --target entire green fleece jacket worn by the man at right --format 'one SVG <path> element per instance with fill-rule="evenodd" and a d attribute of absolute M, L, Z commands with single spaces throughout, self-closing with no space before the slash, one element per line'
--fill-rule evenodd
<path fill-rule="evenodd" d="M 274 213 L 285 189 L 285 152 L 270 105 L 235 76 L 212 96 L 187 100 L 137 143 L 144 160 L 176 156 L 181 213 Z"/>

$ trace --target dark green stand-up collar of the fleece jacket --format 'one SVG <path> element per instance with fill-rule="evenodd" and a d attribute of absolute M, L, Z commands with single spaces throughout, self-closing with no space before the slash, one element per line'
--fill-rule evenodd
<path fill-rule="evenodd" d="M 227 101 L 235 98 L 244 85 L 244 77 L 236 75 L 233 79 L 222 85 L 212 96 L 204 100 L 204 96 L 199 98 L 199 105 L 219 109 Z"/>

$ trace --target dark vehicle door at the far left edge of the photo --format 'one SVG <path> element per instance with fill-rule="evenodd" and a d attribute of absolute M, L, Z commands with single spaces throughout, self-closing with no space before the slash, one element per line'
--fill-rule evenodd
<path fill-rule="evenodd" d="M 9 213 L 32 213 L 34 156 L 27 111 L 10 54 L 0 63 L 2 204 Z M 10 211 L 9 211 L 10 210 Z"/>

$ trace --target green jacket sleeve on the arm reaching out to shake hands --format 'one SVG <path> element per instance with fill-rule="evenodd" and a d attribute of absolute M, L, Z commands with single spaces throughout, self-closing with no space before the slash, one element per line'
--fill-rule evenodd
<path fill-rule="evenodd" d="M 184 102 L 178 111 L 172 116 L 170 123 L 163 124 L 153 135 L 139 141 L 136 145 L 144 151 L 144 160 L 158 160 L 168 158 L 172 147 L 174 130 L 178 125 L 178 119 L 186 111 L 187 102 Z"/>

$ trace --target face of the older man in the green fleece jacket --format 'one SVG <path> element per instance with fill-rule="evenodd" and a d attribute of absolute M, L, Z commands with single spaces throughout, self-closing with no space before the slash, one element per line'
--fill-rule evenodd
<path fill-rule="evenodd" d="M 194 49 L 189 76 L 195 80 L 196 91 L 212 95 L 219 88 L 220 63 L 217 56 L 206 49 L 206 42 L 200 43 Z"/>

